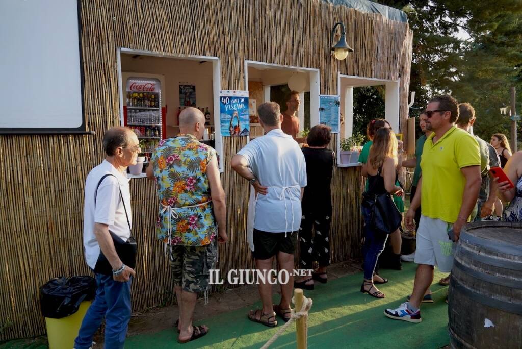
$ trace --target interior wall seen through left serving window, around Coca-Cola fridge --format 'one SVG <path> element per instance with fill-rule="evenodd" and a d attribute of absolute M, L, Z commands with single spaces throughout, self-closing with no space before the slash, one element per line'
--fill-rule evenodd
<path fill-rule="evenodd" d="M 167 106 L 167 136 L 169 132 L 177 132 L 169 126 L 175 126 L 177 111 L 180 107 L 180 82 L 196 86 L 196 107 L 206 108 L 214 116 L 212 62 L 200 63 L 194 60 L 182 60 L 169 57 L 155 57 L 139 55 L 133 58 L 132 54 L 122 54 L 122 71 L 148 74 L 162 74 L 165 76 L 162 97 Z"/>

